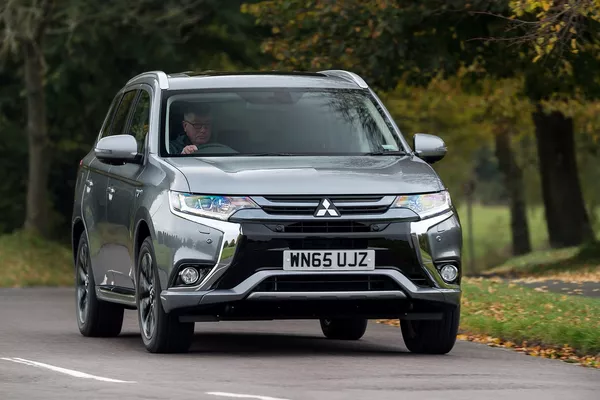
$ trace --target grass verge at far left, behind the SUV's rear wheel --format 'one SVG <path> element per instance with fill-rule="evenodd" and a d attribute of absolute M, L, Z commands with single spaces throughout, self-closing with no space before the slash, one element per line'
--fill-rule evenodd
<path fill-rule="evenodd" d="M 71 251 L 24 232 L 0 236 L 0 287 L 73 284 Z"/>

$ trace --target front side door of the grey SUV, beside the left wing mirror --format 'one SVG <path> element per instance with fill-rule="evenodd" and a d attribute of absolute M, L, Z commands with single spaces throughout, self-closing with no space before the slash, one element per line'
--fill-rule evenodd
<path fill-rule="evenodd" d="M 129 119 L 115 134 L 127 134 L 135 137 L 138 153 L 144 155 L 140 164 L 127 163 L 115 165 L 111 169 L 108 181 L 108 213 L 113 242 L 111 260 L 115 285 L 120 288 L 134 289 L 134 229 L 133 217 L 138 197 L 143 186 L 138 177 L 144 170 L 146 139 L 150 122 L 150 104 L 152 88 L 148 85 L 136 85 L 136 98 L 132 102 Z"/>

